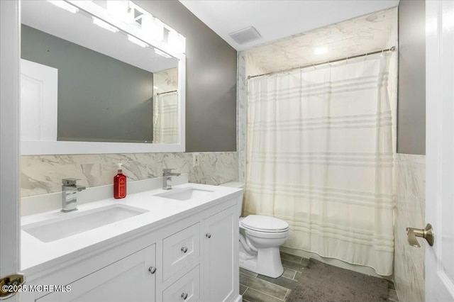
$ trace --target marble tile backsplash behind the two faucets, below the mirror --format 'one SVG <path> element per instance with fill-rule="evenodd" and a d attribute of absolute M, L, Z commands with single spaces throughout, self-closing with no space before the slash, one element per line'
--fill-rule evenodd
<path fill-rule="evenodd" d="M 162 176 L 163 168 L 188 173 L 189 182 L 222 184 L 238 181 L 237 152 L 200 152 L 198 167 L 193 153 L 131 153 L 102 155 L 26 155 L 21 157 L 21 197 L 61 191 L 64 178 L 80 179 L 87 187 L 112 184 L 116 164 L 123 163 L 128 181 Z"/>

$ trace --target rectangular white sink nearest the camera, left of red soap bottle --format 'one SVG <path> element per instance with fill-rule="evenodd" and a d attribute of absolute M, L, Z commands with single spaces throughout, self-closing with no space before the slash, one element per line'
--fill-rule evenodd
<path fill-rule="evenodd" d="M 23 225 L 22 230 L 42 242 L 52 242 L 148 212 L 116 204 L 89 211 L 61 213 L 60 217 Z"/>

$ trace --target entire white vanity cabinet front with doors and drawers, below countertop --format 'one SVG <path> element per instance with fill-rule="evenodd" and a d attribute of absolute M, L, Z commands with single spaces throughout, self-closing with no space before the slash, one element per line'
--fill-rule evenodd
<path fill-rule="evenodd" d="M 26 272 L 29 285 L 70 291 L 21 293 L 20 300 L 240 301 L 238 198 L 240 192 L 111 238 L 67 262 L 35 267 Z"/>

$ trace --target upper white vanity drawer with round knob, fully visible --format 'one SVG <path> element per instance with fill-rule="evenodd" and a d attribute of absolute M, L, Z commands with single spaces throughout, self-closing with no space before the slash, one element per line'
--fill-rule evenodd
<path fill-rule="evenodd" d="M 199 257 L 199 223 L 165 238 L 162 248 L 162 279 L 165 281 Z"/>

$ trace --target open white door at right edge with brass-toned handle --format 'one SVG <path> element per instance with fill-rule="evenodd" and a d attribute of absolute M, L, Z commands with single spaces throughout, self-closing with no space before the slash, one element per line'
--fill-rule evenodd
<path fill-rule="evenodd" d="M 426 222 L 426 301 L 454 301 L 454 1 L 426 1 Z"/>

